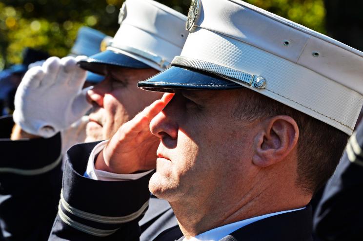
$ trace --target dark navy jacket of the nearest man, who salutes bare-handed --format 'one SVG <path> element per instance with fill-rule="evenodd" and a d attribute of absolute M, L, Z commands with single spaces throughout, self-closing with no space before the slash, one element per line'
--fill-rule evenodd
<path fill-rule="evenodd" d="M 138 180 L 115 182 L 83 176 L 89 154 L 97 144 L 78 144 L 68 150 L 60 208 L 49 240 L 182 240 L 167 202 L 150 198 L 148 183 L 152 173 Z M 149 210 L 142 218 L 148 203 Z M 251 223 L 222 240 L 311 241 L 311 233 L 312 212 L 308 206 Z"/>

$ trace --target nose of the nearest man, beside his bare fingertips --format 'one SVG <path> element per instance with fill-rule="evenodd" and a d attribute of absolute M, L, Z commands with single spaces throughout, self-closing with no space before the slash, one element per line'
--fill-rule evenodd
<path fill-rule="evenodd" d="M 161 140 L 178 139 L 178 123 L 176 121 L 176 103 L 172 99 L 150 122 L 150 131 Z"/>

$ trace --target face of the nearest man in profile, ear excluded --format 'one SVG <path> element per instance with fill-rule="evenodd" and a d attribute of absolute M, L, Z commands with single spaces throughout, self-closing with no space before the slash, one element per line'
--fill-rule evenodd
<path fill-rule="evenodd" d="M 232 117 L 242 90 L 175 91 L 173 99 L 151 122 L 161 138 L 157 171 L 149 188 L 169 202 L 184 198 L 227 196 L 226 187 L 249 185 L 252 143 L 257 121 Z M 247 100 L 246 100 L 247 101 Z M 247 174 L 248 173 L 248 174 Z M 236 193 L 238 195 L 238 193 Z"/>

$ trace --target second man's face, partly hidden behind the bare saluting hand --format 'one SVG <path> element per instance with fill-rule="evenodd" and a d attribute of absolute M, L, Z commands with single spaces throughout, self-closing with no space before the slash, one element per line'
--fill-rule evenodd
<path fill-rule="evenodd" d="M 137 87 L 140 80 L 159 73 L 154 69 L 107 67 L 105 79 L 88 91 L 94 108 L 86 126 L 86 142 L 110 139 L 119 127 L 161 97 Z"/>

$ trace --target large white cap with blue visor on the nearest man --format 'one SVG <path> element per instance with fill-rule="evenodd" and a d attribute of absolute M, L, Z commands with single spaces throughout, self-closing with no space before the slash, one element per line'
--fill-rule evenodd
<path fill-rule="evenodd" d="M 266 95 L 351 134 L 363 103 L 363 53 L 240 0 L 193 0 L 172 67 L 142 89 Z"/>

